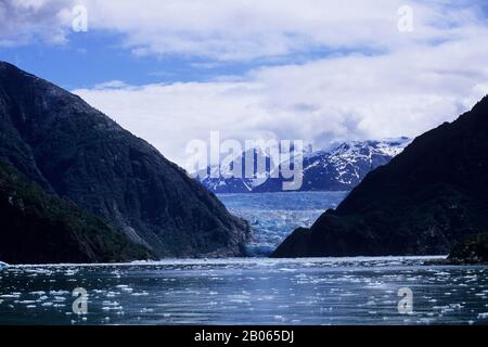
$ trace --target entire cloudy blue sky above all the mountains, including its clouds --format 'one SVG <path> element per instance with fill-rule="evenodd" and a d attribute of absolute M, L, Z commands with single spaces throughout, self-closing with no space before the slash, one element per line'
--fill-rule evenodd
<path fill-rule="evenodd" d="M 240 141 L 416 137 L 488 93 L 483 0 L 0 0 L 0 60 L 169 159 Z"/>

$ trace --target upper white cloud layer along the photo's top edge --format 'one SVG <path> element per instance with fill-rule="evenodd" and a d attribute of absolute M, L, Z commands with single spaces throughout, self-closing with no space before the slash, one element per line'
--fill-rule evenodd
<path fill-rule="evenodd" d="M 136 55 L 200 56 L 209 61 L 269 60 L 321 50 L 390 51 L 464 35 L 485 18 L 476 1 L 408 1 L 413 31 L 400 35 L 404 0 L 7 0 L 0 39 L 69 39 L 70 9 L 88 9 L 90 30 L 120 34 Z"/>

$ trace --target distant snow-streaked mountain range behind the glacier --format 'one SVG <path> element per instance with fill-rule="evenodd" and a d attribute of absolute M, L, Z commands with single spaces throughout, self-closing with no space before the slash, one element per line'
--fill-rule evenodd
<path fill-rule="evenodd" d="M 300 191 L 348 191 L 361 182 L 368 172 L 378 166 L 388 164 L 393 157 L 411 142 L 408 138 L 387 139 L 382 141 L 350 141 L 342 143 L 331 152 L 318 151 L 303 154 L 303 185 Z M 243 153 L 233 160 L 242 162 L 253 155 L 252 151 Z M 266 162 L 266 170 L 257 171 L 256 178 L 231 177 L 231 162 L 222 162 L 220 166 L 210 166 L 196 174 L 197 179 L 214 193 L 261 193 L 281 192 L 286 179 L 281 174 L 271 175 L 272 158 L 257 149 L 255 158 L 261 156 Z M 293 159 L 292 159 L 293 162 Z M 283 162 L 282 165 L 290 165 Z M 271 177 L 277 178 L 271 178 Z"/>

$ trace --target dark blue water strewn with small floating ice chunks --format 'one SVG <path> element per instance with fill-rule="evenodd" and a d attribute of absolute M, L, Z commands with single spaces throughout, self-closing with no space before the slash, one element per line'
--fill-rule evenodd
<path fill-rule="evenodd" d="M 0 324 L 488 324 L 488 267 L 424 258 L 165 260 L 0 271 Z M 72 291 L 88 292 L 73 313 Z M 413 313 L 398 312 L 398 290 Z"/>

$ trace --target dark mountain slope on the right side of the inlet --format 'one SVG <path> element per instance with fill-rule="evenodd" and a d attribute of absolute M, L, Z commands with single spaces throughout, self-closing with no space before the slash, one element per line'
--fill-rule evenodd
<path fill-rule="evenodd" d="M 488 230 L 488 97 L 370 172 L 274 257 L 440 255 Z"/>

